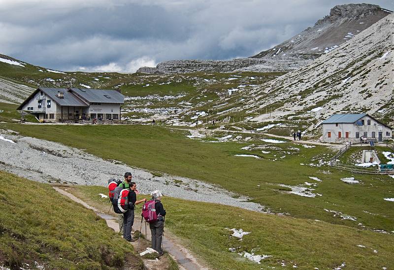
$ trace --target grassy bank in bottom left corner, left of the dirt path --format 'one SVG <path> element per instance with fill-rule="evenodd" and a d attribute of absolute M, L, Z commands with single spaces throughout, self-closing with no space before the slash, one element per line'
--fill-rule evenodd
<path fill-rule="evenodd" d="M 58 194 L 50 185 L 3 171 L 1 264 L 12 269 L 143 269 L 133 247 L 93 211 Z"/>

